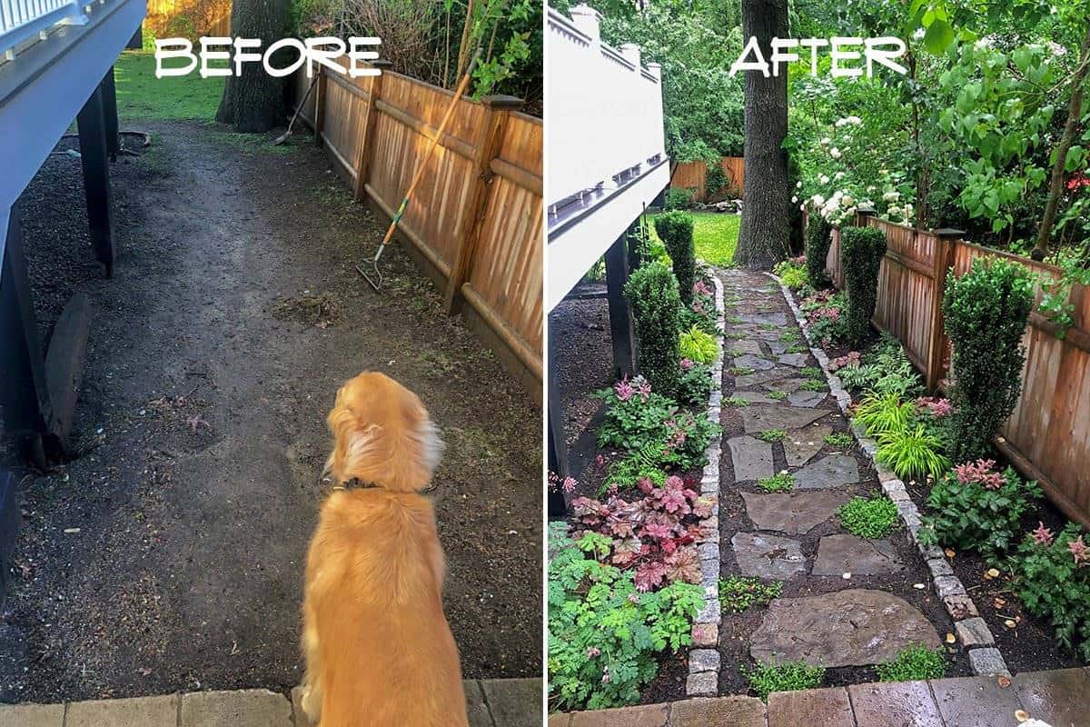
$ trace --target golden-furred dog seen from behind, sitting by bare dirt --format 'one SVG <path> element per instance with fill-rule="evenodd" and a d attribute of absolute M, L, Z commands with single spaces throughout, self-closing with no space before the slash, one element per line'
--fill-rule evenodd
<path fill-rule="evenodd" d="M 364 372 L 337 392 L 322 506 L 306 558 L 303 710 L 320 727 L 468 727 L 458 646 L 443 613 L 431 501 L 443 443 L 427 410 Z"/>

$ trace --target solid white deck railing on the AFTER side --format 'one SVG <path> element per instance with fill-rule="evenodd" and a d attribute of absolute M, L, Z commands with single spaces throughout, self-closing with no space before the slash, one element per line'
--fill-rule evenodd
<path fill-rule="evenodd" d="M 548 11 L 549 205 L 665 156 L 662 69 L 642 66 L 639 46 L 602 43 L 594 9 L 570 12 Z"/>

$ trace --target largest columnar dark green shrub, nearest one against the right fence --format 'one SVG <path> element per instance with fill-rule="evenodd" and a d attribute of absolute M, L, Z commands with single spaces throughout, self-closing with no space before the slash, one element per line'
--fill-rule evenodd
<path fill-rule="evenodd" d="M 1002 258 L 976 258 L 960 278 L 950 271 L 943 296 L 954 349 L 954 460 L 988 455 L 992 437 L 1021 393 L 1022 334 L 1033 307 L 1029 271 Z"/>

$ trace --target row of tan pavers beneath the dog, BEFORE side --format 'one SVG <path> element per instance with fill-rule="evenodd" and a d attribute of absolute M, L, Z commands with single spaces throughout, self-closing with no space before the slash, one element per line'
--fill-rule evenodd
<path fill-rule="evenodd" d="M 541 679 L 468 679 L 470 727 L 540 727 Z M 311 727 L 291 699 L 267 689 L 207 691 L 90 700 L 63 704 L 0 705 L 0 727 Z"/>

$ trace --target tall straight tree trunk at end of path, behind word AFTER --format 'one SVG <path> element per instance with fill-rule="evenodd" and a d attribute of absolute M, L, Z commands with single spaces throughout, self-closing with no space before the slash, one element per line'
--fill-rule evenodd
<path fill-rule="evenodd" d="M 786 38 L 787 0 L 742 0 L 742 36 L 756 37 L 765 60 L 772 39 Z M 746 195 L 735 260 L 768 269 L 788 254 L 790 190 L 787 181 L 787 69 L 778 76 L 746 74 Z"/>

